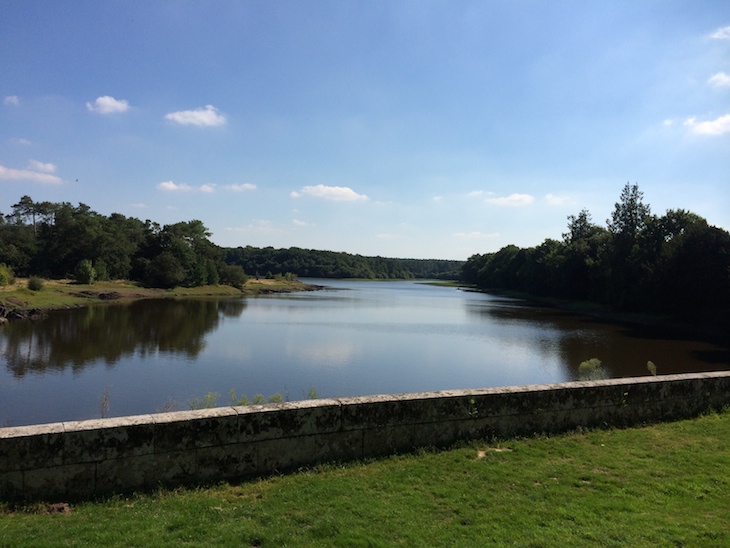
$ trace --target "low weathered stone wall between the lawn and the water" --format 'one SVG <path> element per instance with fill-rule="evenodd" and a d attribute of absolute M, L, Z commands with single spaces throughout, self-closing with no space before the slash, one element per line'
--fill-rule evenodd
<path fill-rule="evenodd" d="M 270 474 L 459 439 L 679 419 L 730 404 L 730 372 L 222 407 L 0 428 L 0 498 Z"/>

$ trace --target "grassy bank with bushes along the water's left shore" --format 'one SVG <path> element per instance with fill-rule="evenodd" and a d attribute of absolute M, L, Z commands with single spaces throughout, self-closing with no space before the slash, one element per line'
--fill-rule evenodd
<path fill-rule="evenodd" d="M 39 291 L 31 291 L 27 285 L 27 280 L 18 279 L 11 286 L 0 287 L 0 304 L 20 310 L 52 310 L 131 299 L 241 297 L 263 293 L 306 291 L 312 288 L 300 281 L 268 279 L 251 279 L 246 282 L 243 290 L 227 285 L 157 289 L 142 287 L 128 281 L 84 285 L 71 280 L 44 280 L 43 288 Z"/>

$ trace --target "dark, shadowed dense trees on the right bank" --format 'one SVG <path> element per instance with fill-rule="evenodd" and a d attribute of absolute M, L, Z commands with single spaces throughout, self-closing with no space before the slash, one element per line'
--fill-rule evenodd
<path fill-rule="evenodd" d="M 568 217 L 562 241 L 470 257 L 463 280 L 727 325 L 730 234 L 682 209 L 652 215 L 643 198 L 638 185 L 627 184 L 606 227 L 583 210 Z"/>

